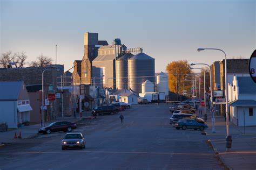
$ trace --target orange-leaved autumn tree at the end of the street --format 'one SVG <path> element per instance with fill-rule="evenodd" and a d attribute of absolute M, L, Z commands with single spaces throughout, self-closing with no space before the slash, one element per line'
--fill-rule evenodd
<path fill-rule="evenodd" d="M 166 72 L 169 76 L 169 90 L 182 94 L 183 89 L 190 91 L 190 64 L 187 60 L 172 61 L 166 66 Z"/>

